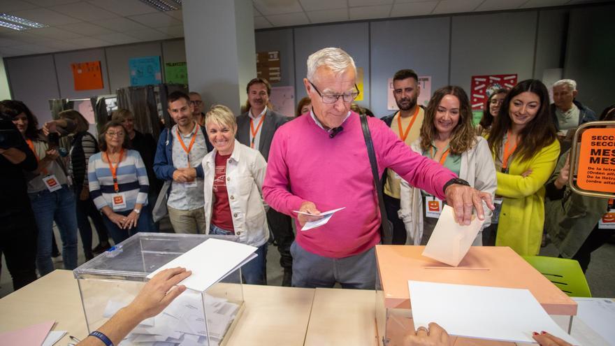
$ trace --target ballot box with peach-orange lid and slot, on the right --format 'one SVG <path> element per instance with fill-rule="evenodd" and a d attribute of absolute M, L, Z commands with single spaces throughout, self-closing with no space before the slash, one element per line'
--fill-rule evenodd
<path fill-rule="evenodd" d="M 424 246 L 376 245 L 379 280 L 375 310 L 377 340 L 381 346 L 403 345 L 404 336 L 414 334 L 408 280 L 528 289 L 549 315 L 570 317 L 570 322 L 577 315 L 577 303 L 510 247 L 472 246 L 458 267 L 422 256 L 424 249 Z M 468 341 L 467 345 L 476 344 L 476 339 L 461 339 L 462 345 Z"/>

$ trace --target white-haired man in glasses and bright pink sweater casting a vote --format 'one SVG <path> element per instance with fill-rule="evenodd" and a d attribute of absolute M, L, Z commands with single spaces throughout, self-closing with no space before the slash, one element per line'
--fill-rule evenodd
<path fill-rule="evenodd" d="M 310 55 L 303 79 L 312 99 L 310 115 L 282 125 L 273 137 L 263 183 L 271 207 L 294 217 L 298 230 L 321 218 L 312 215 L 345 207 L 326 224 L 297 231 L 291 246 L 295 287 L 333 287 L 339 282 L 345 288 L 375 288 L 382 215 L 361 118 L 350 110 L 359 94 L 355 82 L 354 61 L 343 50 L 324 48 Z M 493 208 L 489 194 L 412 152 L 384 122 L 368 117 L 367 123 L 379 176 L 391 168 L 411 185 L 446 200 L 460 223 L 470 224 L 474 208 L 483 219 L 483 200 Z"/>

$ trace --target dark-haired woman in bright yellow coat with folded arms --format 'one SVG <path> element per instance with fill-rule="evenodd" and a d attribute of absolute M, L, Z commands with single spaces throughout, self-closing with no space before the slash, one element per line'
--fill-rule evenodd
<path fill-rule="evenodd" d="M 521 255 L 540 250 L 544 185 L 560 145 L 549 116 L 549 92 L 540 80 L 523 80 L 507 94 L 489 135 L 502 203 L 496 246 Z"/>

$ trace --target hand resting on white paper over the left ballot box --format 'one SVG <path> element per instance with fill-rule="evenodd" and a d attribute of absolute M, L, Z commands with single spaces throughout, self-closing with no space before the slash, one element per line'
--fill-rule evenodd
<path fill-rule="evenodd" d="M 154 317 L 177 298 L 186 287 L 182 282 L 192 274 L 186 268 L 169 268 L 157 273 L 148 281 L 134 300 L 126 306 L 140 320 Z"/>

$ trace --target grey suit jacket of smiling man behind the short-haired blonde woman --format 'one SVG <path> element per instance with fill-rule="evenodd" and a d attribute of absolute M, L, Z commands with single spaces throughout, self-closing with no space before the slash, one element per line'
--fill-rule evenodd
<path fill-rule="evenodd" d="M 249 110 L 248 110 L 249 112 Z M 250 146 L 250 126 L 249 121 L 250 117 L 248 112 L 243 113 L 242 115 L 237 117 L 237 140 L 239 143 L 243 145 Z M 263 157 L 267 160 L 269 157 L 269 149 L 271 147 L 271 140 L 273 140 L 273 134 L 278 127 L 286 124 L 289 121 L 289 117 L 285 117 L 280 113 L 275 113 L 270 108 L 267 108 L 267 112 L 265 113 L 265 119 L 263 120 L 263 124 L 261 125 L 261 138 L 259 140 L 259 152 L 263 155 Z"/>

